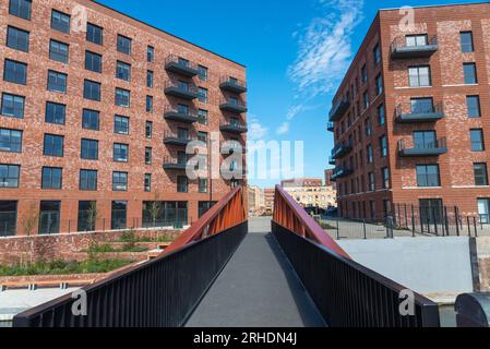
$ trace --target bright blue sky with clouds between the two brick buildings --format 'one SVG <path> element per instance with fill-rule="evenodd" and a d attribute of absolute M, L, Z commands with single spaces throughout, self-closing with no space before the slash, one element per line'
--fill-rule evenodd
<path fill-rule="evenodd" d="M 473 1 L 99 2 L 246 64 L 249 137 L 303 141 L 304 176 L 323 178 L 333 147 L 326 131 L 332 97 L 378 9 Z"/>

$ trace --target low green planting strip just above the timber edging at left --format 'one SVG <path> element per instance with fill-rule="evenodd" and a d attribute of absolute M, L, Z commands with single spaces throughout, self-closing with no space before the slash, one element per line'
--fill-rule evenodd
<path fill-rule="evenodd" d="M 0 265 L 0 276 L 32 276 L 32 275 L 71 275 L 71 274 L 101 274 L 127 266 L 134 261 L 128 260 L 87 260 L 34 262 L 26 265 Z"/>

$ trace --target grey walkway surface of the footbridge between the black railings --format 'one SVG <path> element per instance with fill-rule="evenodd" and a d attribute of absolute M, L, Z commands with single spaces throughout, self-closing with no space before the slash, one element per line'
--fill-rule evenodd
<path fill-rule="evenodd" d="M 321 315 L 270 233 L 271 219 L 251 219 L 249 231 L 187 326 L 324 326 Z"/>

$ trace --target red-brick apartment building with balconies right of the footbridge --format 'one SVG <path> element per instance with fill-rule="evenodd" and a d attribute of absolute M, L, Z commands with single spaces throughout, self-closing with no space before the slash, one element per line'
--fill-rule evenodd
<path fill-rule="evenodd" d="M 340 214 L 384 219 L 393 204 L 488 222 L 490 3 L 378 12 L 333 101 Z"/>

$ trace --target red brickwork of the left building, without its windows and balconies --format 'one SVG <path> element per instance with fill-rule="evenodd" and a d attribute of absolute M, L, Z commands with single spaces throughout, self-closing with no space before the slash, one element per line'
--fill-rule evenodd
<path fill-rule="evenodd" d="M 88 23 L 104 28 L 103 45 L 87 41 L 85 31 L 77 31 L 80 25 L 76 9 L 86 10 Z M 51 28 L 51 11 L 57 10 L 71 15 L 70 34 L 60 33 Z M 246 70 L 242 65 L 217 56 L 183 39 L 169 35 L 157 28 L 133 20 L 117 11 L 108 9 L 88 0 L 46 0 L 32 1 L 31 20 L 24 20 L 9 14 L 9 0 L 0 1 L 0 74 L 3 74 L 4 59 L 13 59 L 27 64 L 26 85 L 2 81 L 1 92 L 25 97 L 24 118 L 9 118 L 0 116 L 0 128 L 22 130 L 22 153 L 0 152 L 0 164 L 21 166 L 19 188 L 0 189 L 0 201 L 17 202 L 17 233 L 22 221 L 31 216 L 31 207 L 38 209 L 40 201 L 60 201 L 60 232 L 73 231 L 76 228 L 80 201 L 96 201 L 100 218 L 105 218 L 106 227 L 111 219 L 111 202 L 128 203 L 128 220 L 135 218 L 141 222 L 143 202 L 158 197 L 165 202 L 183 202 L 188 205 L 189 222 L 199 218 L 200 202 L 215 202 L 229 192 L 231 183 L 224 179 L 215 179 L 207 185 L 207 193 L 200 193 L 198 181 L 189 181 L 188 193 L 177 192 L 177 176 L 182 171 L 165 170 L 164 160 L 177 159 L 177 152 L 182 151 L 176 145 L 163 143 L 165 134 L 177 132 L 178 128 L 187 128 L 191 137 L 198 132 L 206 132 L 208 137 L 217 132 L 219 142 L 238 139 L 246 143 L 243 133 L 234 134 L 220 132 L 220 124 L 227 123 L 230 117 L 246 123 L 246 113 L 231 113 L 222 110 L 223 99 L 234 94 L 220 88 L 223 79 L 238 79 L 246 81 Z M 82 19 L 82 27 L 85 25 Z M 13 26 L 29 32 L 28 52 L 7 47 L 7 29 Z M 198 26 L 195 27 L 198 29 Z M 131 55 L 117 50 L 117 37 L 123 35 L 131 38 Z M 55 39 L 69 44 L 69 62 L 60 63 L 49 59 L 49 41 Z M 147 62 L 147 47 L 154 48 L 154 61 Z M 84 69 L 85 51 L 98 53 L 103 57 L 103 71 L 96 73 Z M 182 57 L 191 64 L 207 68 L 207 80 L 200 76 L 186 77 L 169 72 L 165 63 L 170 55 Z M 130 82 L 116 79 L 117 61 L 131 64 Z M 47 91 L 48 70 L 68 74 L 68 89 L 65 94 Z M 153 87 L 146 87 L 147 71 L 153 71 Z M 94 101 L 83 96 L 84 80 L 101 84 L 101 100 Z M 169 82 L 186 81 L 207 89 L 207 103 L 194 99 L 190 103 L 164 93 Z M 131 92 L 130 107 L 115 105 L 116 88 Z M 146 96 L 153 96 L 153 112 L 146 111 Z M 244 94 L 237 95 L 238 99 L 246 99 Z M 52 124 L 45 122 L 46 103 L 53 101 L 65 105 L 65 123 Z M 166 120 L 164 111 L 168 106 L 187 104 L 191 109 L 208 111 L 207 124 L 194 122 L 192 124 Z M 82 128 L 82 110 L 93 109 L 100 113 L 98 131 Z M 115 133 L 113 117 L 116 115 L 130 118 L 129 134 Z M 153 122 L 152 137 L 145 136 L 146 122 Z M 45 134 L 64 136 L 63 157 L 48 157 L 43 154 L 43 139 Z M 98 160 L 81 159 L 81 140 L 98 141 Z M 112 145 L 115 143 L 129 145 L 127 163 L 112 160 Z M 145 148 L 152 147 L 152 165 L 145 165 Z M 184 149 L 183 149 L 184 151 Z M 219 161 L 225 159 L 220 156 Z M 62 189 L 41 190 L 43 167 L 62 168 Z M 81 191 L 79 176 L 81 169 L 98 171 L 97 190 Z M 128 172 L 128 191 L 112 190 L 112 172 Z M 151 192 L 144 188 L 145 173 L 152 174 Z M 212 191 L 212 193 L 210 193 Z M 34 206 L 33 206 L 34 205 Z M 1 222 L 0 222 L 1 225 Z M 103 229 L 101 219 L 96 229 Z"/>

